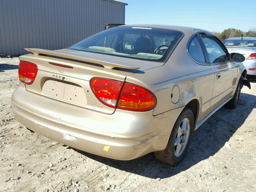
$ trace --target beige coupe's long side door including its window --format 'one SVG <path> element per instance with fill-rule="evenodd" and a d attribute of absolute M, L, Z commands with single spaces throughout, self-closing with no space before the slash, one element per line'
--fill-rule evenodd
<path fill-rule="evenodd" d="M 213 34 L 201 33 L 207 60 L 214 70 L 214 85 L 210 111 L 227 100 L 235 88 L 237 65 L 230 61 L 230 55 L 222 42 Z"/>

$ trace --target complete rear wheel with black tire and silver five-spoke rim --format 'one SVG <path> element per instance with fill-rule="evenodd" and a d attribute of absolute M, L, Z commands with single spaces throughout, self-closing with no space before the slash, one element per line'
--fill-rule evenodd
<path fill-rule="evenodd" d="M 185 108 L 172 129 L 168 144 L 163 151 L 154 152 L 160 162 L 176 166 L 188 151 L 194 132 L 194 116 L 190 109 Z"/>

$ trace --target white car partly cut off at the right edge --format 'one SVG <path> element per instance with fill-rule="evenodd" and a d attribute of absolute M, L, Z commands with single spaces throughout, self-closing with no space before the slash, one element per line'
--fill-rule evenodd
<path fill-rule="evenodd" d="M 230 53 L 240 53 L 246 58 L 243 62 L 248 75 L 256 75 L 256 38 L 234 37 L 223 41 Z"/>

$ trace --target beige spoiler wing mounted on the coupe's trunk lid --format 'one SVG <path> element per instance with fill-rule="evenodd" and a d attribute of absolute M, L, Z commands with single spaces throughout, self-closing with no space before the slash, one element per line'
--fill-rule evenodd
<path fill-rule="evenodd" d="M 52 51 L 52 50 L 31 49 L 31 48 L 25 48 L 25 50 L 27 50 L 28 52 L 32 52 L 34 55 L 43 54 L 43 55 L 50 55 L 50 56 L 56 56 L 56 57 L 62 57 L 62 58 L 68 58 L 68 59 L 74 59 L 74 60 L 79 60 L 79 61 L 84 61 L 84 62 L 100 64 L 100 65 L 104 66 L 104 68 L 107 68 L 107 69 L 113 69 L 113 68 L 139 69 L 140 68 L 138 66 L 134 66 L 132 64 L 128 64 L 125 62 L 114 63 L 113 61 L 110 61 L 110 60 L 97 60 L 94 58 L 83 57 L 83 56 L 77 55 L 77 54 L 64 53 L 64 52 L 61 52 L 60 50 Z"/>

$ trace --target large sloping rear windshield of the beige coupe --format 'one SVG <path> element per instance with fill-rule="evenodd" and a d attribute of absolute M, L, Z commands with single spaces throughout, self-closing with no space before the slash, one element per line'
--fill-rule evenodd
<path fill-rule="evenodd" d="M 164 62 L 182 36 L 174 30 L 115 27 L 90 36 L 70 49 Z"/>

